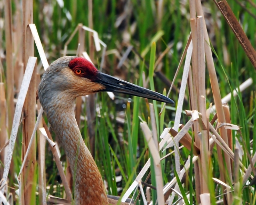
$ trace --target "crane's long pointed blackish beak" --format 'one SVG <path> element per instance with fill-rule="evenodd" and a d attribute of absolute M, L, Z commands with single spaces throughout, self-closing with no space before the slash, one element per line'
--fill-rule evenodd
<path fill-rule="evenodd" d="M 130 82 L 116 79 L 110 75 L 101 72 L 97 74 L 97 79 L 95 79 L 94 82 L 100 83 L 106 87 L 106 89 L 100 91 L 118 92 L 148 98 L 152 100 L 157 100 L 164 103 L 174 103 L 174 101 L 172 101 L 170 98 L 167 98 L 166 96 L 158 92 L 154 92 L 149 89 L 136 86 L 135 84 L 132 84 Z"/>

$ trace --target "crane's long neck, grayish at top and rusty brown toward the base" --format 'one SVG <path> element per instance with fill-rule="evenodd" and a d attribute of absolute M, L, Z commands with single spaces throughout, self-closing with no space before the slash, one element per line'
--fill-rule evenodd
<path fill-rule="evenodd" d="M 63 93 L 42 103 L 69 160 L 75 181 L 76 204 L 108 204 L 101 174 L 76 123 L 74 105 L 75 99 L 63 96 Z"/>

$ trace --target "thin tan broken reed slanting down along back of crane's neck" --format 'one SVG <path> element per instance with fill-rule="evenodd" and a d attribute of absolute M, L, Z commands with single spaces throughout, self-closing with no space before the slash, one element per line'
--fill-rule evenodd
<path fill-rule="evenodd" d="M 49 131 L 49 129 L 48 129 L 44 119 L 43 119 L 43 127 L 44 127 L 44 129 L 46 131 L 46 134 L 47 134 L 48 138 L 53 141 L 52 135 L 51 135 L 51 133 L 50 133 L 50 131 Z M 69 202 L 71 202 L 72 201 L 72 194 L 71 194 L 71 191 L 69 189 L 69 184 L 68 184 L 67 178 L 65 176 L 64 170 L 62 168 L 62 164 L 61 164 L 59 155 L 58 155 L 57 150 L 56 150 L 55 147 L 50 146 L 50 149 L 52 151 L 53 158 L 54 158 L 56 166 L 58 168 L 58 171 L 59 171 L 59 174 L 60 174 L 60 178 L 62 180 L 64 189 L 65 189 L 65 192 L 66 192 L 66 195 L 67 195 L 67 200 Z"/>

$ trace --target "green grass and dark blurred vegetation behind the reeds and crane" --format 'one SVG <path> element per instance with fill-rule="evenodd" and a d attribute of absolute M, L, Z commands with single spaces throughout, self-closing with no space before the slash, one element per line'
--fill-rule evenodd
<path fill-rule="evenodd" d="M 241 24 L 252 46 L 255 48 L 255 33 L 256 33 L 256 7 L 255 1 L 228 1 L 231 10 Z M 190 14 L 189 1 L 186 0 L 94 0 L 92 1 L 92 10 L 89 9 L 91 1 L 33 1 L 34 23 L 36 25 L 39 37 L 41 39 L 44 52 L 49 64 L 55 59 L 63 55 L 63 49 L 71 33 L 75 30 L 79 23 L 87 27 L 92 27 L 98 32 L 99 38 L 107 45 L 105 60 L 102 67 L 102 72 L 117 76 L 120 79 L 150 88 L 149 86 L 149 62 L 150 48 L 153 41 L 156 42 L 156 62 L 154 75 L 154 89 L 157 92 L 165 93 L 169 90 L 171 82 L 177 67 L 179 65 L 181 55 L 185 49 L 189 34 L 190 34 Z M 1 66 L 1 82 L 7 89 L 6 80 L 6 32 L 5 32 L 5 17 L 4 6 L 6 1 L 0 1 L 0 58 Z M 159 8 L 159 4 L 162 4 Z M 220 13 L 214 1 L 202 1 L 203 11 L 209 33 L 211 46 L 213 50 L 213 59 L 215 70 L 218 76 L 219 88 L 221 97 L 226 96 L 229 92 L 239 87 L 244 81 L 252 78 L 252 85 L 243 92 L 238 91 L 238 97 L 231 97 L 228 103 L 230 106 L 231 123 L 241 126 L 244 143 L 237 131 L 233 133 L 233 149 L 237 147 L 237 143 L 241 144 L 241 149 L 244 150 L 244 155 L 241 158 L 245 167 L 249 166 L 249 157 L 253 156 L 256 151 L 256 110 L 255 110 L 255 69 L 249 58 L 246 56 L 243 48 L 239 44 L 233 31 L 228 26 L 227 22 Z M 12 24 L 13 24 L 13 65 L 15 83 L 19 82 L 19 73 L 16 67 L 17 59 L 20 58 L 20 47 L 22 47 L 22 2 L 15 0 L 11 1 L 12 8 Z M 91 12 L 91 13 L 90 13 Z M 21 32 L 20 32 L 21 31 Z M 78 47 L 78 33 L 70 41 L 67 47 L 67 55 L 76 55 Z M 90 55 L 94 65 L 100 69 L 102 59 L 102 49 L 100 52 L 95 51 L 93 39 L 90 38 L 89 32 L 85 33 L 85 51 Z M 91 46 L 92 45 L 92 46 Z M 90 47 L 91 46 L 91 47 Z M 119 64 L 127 49 L 131 52 L 122 64 Z M 164 53 L 165 51 L 165 53 Z M 163 54 L 164 53 L 164 54 Z M 42 62 L 39 60 L 39 54 L 35 48 L 35 56 L 38 57 L 37 73 L 44 72 Z M 161 57 L 161 58 L 159 58 Z M 22 58 L 22 56 L 21 56 Z M 159 59 L 159 62 L 157 61 Z M 165 113 L 157 118 L 157 131 L 159 135 L 165 127 L 172 127 L 175 118 L 175 107 L 177 107 L 179 88 L 182 78 L 182 69 L 178 73 L 177 79 L 174 81 L 170 98 L 175 101 L 174 106 L 166 106 Z M 165 76 L 159 76 L 159 71 Z M 144 73 L 144 74 L 142 74 Z M 142 77 L 145 76 L 145 79 Z M 18 83 L 15 84 L 14 98 L 18 97 Z M 210 103 L 214 103 L 210 78 L 206 69 L 206 108 L 209 108 Z M 152 88 L 152 87 L 151 87 Z M 7 93 L 7 90 L 6 90 Z M 86 100 L 85 100 L 86 101 Z M 150 101 L 150 100 L 149 100 Z M 159 113 L 161 103 L 155 104 Z M 183 110 L 191 110 L 189 105 L 189 93 L 186 91 Z M 0 113 L 2 110 L 0 110 Z M 124 190 L 127 190 L 129 185 L 135 179 L 141 168 L 145 165 L 150 157 L 150 151 L 147 148 L 147 142 L 140 128 L 141 120 L 150 123 L 150 111 L 148 100 L 130 97 L 127 95 L 116 95 L 115 99 L 109 98 L 107 93 L 98 93 L 95 100 L 95 118 L 92 124 L 88 125 L 86 119 L 86 104 L 82 103 L 80 113 L 81 124 L 80 129 L 87 147 L 89 144 L 88 126 L 92 126 L 95 131 L 95 161 L 100 169 L 103 180 L 106 182 L 108 194 L 121 195 Z M 102 117 L 104 116 L 104 117 Z M 211 118 L 213 115 L 211 115 Z M 185 112 L 182 113 L 181 123 L 186 124 L 190 119 Z M 47 119 L 45 118 L 47 122 Z M 3 122 L 1 122 L 3 123 Z M 91 127 L 90 127 L 91 128 Z M 192 135 L 191 131 L 189 133 Z M 10 136 L 10 132 L 8 133 Z M 55 139 L 54 133 L 52 133 Z M 237 138 L 236 138 L 237 137 Z M 2 148 L 4 144 L 0 144 Z M 60 159 L 66 170 L 65 152 L 60 146 Z M 170 153 L 173 148 L 169 148 L 166 152 Z M 45 172 L 46 172 L 46 191 L 47 194 L 55 197 L 65 197 L 62 181 L 60 179 L 57 166 L 50 152 L 49 144 L 46 144 L 45 152 Z M 190 151 L 182 148 L 181 166 L 185 164 L 185 160 L 190 155 Z M 19 173 L 22 164 L 22 125 L 20 126 L 17 141 L 15 143 L 13 153 L 13 173 Z M 36 155 L 36 158 L 38 155 Z M 212 172 L 215 178 L 220 178 L 220 168 L 218 164 L 218 155 L 216 146 L 213 147 L 211 154 Z M 1 170 L 3 172 L 3 163 Z M 192 166 L 191 166 L 192 167 Z M 174 175 L 174 154 L 167 157 L 162 163 L 163 181 L 164 184 L 170 182 Z M 193 172 L 193 169 L 190 169 Z M 147 172 L 149 174 L 149 171 Z M 117 177 L 119 176 L 119 177 Z M 142 181 L 146 180 L 146 176 Z M 195 193 L 195 180 L 193 174 L 186 175 L 189 180 L 185 180 L 183 190 L 185 193 Z M 1 175 L 2 177 L 2 175 Z M 39 204 L 38 197 L 38 173 L 37 168 L 34 176 L 34 194 L 36 204 Z M 240 180 L 242 175 L 240 173 Z M 151 184 L 151 179 L 147 183 Z M 187 183 L 186 183 L 187 182 Z M 192 186 L 189 186 L 189 183 Z M 152 182 L 154 186 L 154 179 Z M 221 201 L 223 198 L 223 189 L 218 184 L 211 183 L 211 197 L 216 201 Z M 17 181 L 13 177 L 13 183 L 10 184 L 11 190 L 17 190 Z M 254 194 L 253 186 L 241 186 L 241 194 L 239 195 L 239 203 L 255 204 L 256 194 Z M 12 192 L 13 193 L 13 192 Z M 123 192 L 124 193 L 124 192 Z M 14 193 L 13 193 L 14 194 Z M 152 191 L 152 197 L 156 194 Z M 14 197 L 18 200 L 17 195 Z M 190 202 L 197 204 L 195 197 L 191 197 Z M 32 196 L 33 197 L 33 196 Z M 175 197 L 178 200 L 178 197 Z M 212 199 L 212 198 L 211 198 Z M 153 200 L 155 198 L 153 197 Z M 175 200 L 174 200 L 175 201 Z M 213 202 L 212 204 L 214 204 Z M 222 201 L 223 203 L 223 201 Z M 234 202 L 235 204 L 236 202 Z M 18 204 L 18 203 L 17 203 Z M 142 200 L 140 204 L 143 204 Z M 191 203 L 192 204 L 192 203 Z M 238 203 L 237 203 L 238 204 Z"/>

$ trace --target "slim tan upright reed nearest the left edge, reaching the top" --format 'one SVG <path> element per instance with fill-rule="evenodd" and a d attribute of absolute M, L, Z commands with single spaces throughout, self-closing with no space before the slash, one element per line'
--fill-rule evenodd
<path fill-rule="evenodd" d="M 6 84 L 7 84 L 7 110 L 8 110 L 8 131 L 12 130 L 14 116 L 14 70 L 12 65 L 12 6 L 11 0 L 4 1 L 5 18 L 5 44 L 6 46 Z"/>

